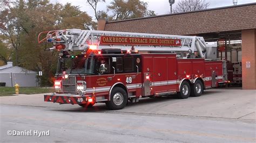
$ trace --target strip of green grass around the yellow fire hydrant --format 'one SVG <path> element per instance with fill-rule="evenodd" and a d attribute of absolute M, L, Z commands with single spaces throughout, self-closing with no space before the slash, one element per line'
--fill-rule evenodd
<path fill-rule="evenodd" d="M 54 92 L 53 88 L 21 87 L 19 94 L 44 94 Z M 11 96 L 15 94 L 14 87 L 0 87 L 0 96 Z"/>

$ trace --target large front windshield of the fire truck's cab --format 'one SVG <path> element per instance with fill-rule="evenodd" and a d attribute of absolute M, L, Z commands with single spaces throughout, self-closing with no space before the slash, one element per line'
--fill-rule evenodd
<path fill-rule="evenodd" d="M 57 73 L 62 73 L 63 71 L 66 71 L 68 74 L 85 74 L 85 58 L 77 57 L 74 59 L 59 59 Z"/>

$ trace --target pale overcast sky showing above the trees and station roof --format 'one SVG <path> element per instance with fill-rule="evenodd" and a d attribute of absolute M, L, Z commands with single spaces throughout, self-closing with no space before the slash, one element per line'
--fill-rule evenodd
<path fill-rule="evenodd" d="M 86 0 L 50 0 L 51 2 L 59 2 L 62 4 L 71 3 L 72 5 L 80 6 L 82 11 L 86 11 L 90 16 L 93 17 L 93 10 L 89 4 L 86 3 Z M 170 4 L 169 0 L 142 0 L 143 2 L 147 2 L 148 9 L 156 12 L 157 15 L 165 15 L 170 12 Z M 176 0 L 173 4 L 173 8 L 175 5 L 181 0 Z M 104 2 L 100 2 L 97 10 L 106 10 L 106 5 L 110 4 L 111 0 L 105 0 Z M 210 2 L 210 6 L 208 8 L 219 8 L 223 6 L 231 6 L 233 5 L 233 0 L 208 0 Z M 256 0 L 238 0 L 239 4 L 246 3 L 255 3 Z"/>

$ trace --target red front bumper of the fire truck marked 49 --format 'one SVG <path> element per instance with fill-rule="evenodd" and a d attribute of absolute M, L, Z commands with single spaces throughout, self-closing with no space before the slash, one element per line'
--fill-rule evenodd
<path fill-rule="evenodd" d="M 53 102 L 59 104 L 87 104 L 91 97 L 88 96 L 74 96 L 74 95 L 44 95 L 45 102 Z M 92 101 L 95 100 L 92 98 Z"/>

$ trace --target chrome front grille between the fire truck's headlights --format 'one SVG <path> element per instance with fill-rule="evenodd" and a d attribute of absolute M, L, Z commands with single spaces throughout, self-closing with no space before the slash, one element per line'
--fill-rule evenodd
<path fill-rule="evenodd" d="M 76 94 L 76 76 L 69 76 L 68 78 L 62 79 L 62 91 L 64 93 Z"/>

